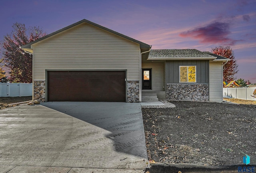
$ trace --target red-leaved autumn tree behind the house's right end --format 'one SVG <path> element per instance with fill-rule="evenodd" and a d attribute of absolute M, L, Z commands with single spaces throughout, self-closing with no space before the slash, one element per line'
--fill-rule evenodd
<path fill-rule="evenodd" d="M 234 57 L 234 52 L 230 48 L 230 46 L 219 46 L 212 48 L 212 53 L 220 55 L 222 57 L 226 57 L 230 59 L 228 63 L 226 63 L 223 67 L 223 81 L 230 82 L 234 80 L 234 75 L 238 72 L 236 64 L 236 59 Z"/>

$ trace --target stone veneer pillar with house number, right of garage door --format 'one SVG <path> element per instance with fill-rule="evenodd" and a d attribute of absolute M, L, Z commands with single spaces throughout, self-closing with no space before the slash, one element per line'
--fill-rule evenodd
<path fill-rule="evenodd" d="M 136 87 L 131 87 L 136 85 Z M 140 81 L 128 80 L 127 81 L 127 102 L 139 103 L 140 102 Z"/>

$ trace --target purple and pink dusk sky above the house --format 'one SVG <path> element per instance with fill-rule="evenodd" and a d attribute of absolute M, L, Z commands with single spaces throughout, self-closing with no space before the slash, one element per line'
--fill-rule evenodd
<path fill-rule="evenodd" d="M 256 83 L 256 0 L 1 0 L 0 40 L 16 22 L 52 33 L 82 19 L 152 49 L 230 46 L 236 79 Z"/>

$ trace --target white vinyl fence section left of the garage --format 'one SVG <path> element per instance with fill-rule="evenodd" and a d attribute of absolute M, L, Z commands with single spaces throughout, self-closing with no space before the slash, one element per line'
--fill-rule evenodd
<path fill-rule="evenodd" d="M 0 83 L 0 97 L 32 96 L 32 83 Z"/>

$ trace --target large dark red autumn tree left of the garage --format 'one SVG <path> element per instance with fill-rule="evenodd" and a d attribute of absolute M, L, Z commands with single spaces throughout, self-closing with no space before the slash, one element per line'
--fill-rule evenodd
<path fill-rule="evenodd" d="M 10 34 L 2 41 L 2 59 L 10 69 L 10 82 L 32 83 L 32 55 L 25 53 L 20 46 L 30 43 L 46 35 L 39 27 L 25 27 L 25 24 L 15 23 Z"/>

